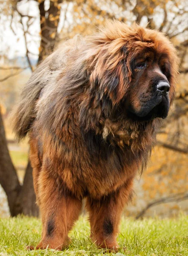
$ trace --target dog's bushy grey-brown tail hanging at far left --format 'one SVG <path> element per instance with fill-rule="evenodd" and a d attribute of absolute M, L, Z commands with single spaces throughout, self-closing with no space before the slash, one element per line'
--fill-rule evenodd
<path fill-rule="evenodd" d="M 46 84 L 45 74 L 49 71 L 48 58 L 32 73 L 21 91 L 20 101 L 11 114 L 13 130 L 18 140 L 23 139 L 36 117 L 35 105 Z"/>

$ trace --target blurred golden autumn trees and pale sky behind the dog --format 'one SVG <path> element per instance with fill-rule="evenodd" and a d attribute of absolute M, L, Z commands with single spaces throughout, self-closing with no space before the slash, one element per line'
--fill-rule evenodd
<path fill-rule="evenodd" d="M 9 121 L 20 88 L 60 41 L 114 18 L 164 32 L 180 58 L 174 106 L 124 214 L 188 213 L 188 0 L 0 0 L 0 13 L 0 217 L 39 214 L 28 141 L 17 144 Z"/>

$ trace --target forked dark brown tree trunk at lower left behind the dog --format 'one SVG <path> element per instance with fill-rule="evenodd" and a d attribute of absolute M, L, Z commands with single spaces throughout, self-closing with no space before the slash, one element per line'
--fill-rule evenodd
<path fill-rule="evenodd" d="M 21 186 L 7 147 L 3 120 L 0 113 L 0 184 L 6 192 L 11 216 L 20 213 L 38 216 L 38 206 L 32 180 L 30 163 Z"/>

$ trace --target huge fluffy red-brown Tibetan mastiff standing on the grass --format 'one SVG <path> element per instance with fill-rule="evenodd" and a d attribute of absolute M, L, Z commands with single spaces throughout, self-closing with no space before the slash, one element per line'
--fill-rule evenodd
<path fill-rule="evenodd" d="M 177 74 L 165 35 L 119 21 L 65 41 L 38 66 L 14 112 L 17 137 L 29 134 L 43 224 L 36 249 L 67 244 L 84 198 L 93 242 L 118 248 L 121 212 L 168 115 Z"/>

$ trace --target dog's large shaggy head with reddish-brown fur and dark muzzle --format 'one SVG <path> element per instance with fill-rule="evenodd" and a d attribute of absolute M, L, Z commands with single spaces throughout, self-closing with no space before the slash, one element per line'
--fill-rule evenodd
<path fill-rule="evenodd" d="M 162 33 L 115 21 L 89 41 L 91 90 L 95 88 L 103 105 L 108 100 L 138 121 L 168 115 L 178 58 Z"/>

